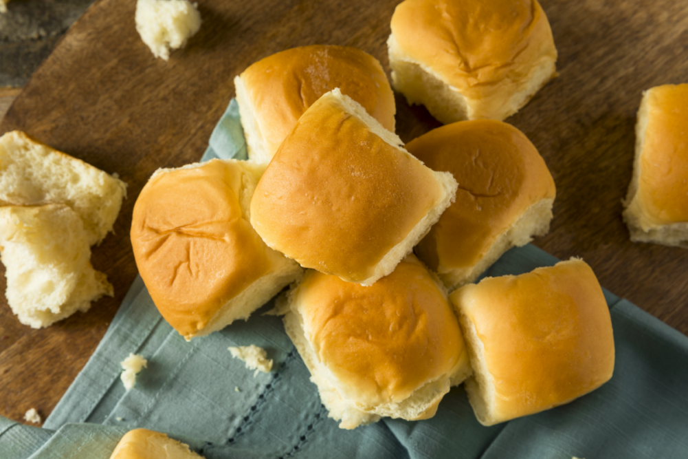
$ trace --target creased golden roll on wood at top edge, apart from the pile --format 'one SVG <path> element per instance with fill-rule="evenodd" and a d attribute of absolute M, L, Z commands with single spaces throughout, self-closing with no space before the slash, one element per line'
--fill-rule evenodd
<path fill-rule="evenodd" d="M 555 76 L 537 0 L 406 0 L 387 45 L 394 89 L 445 124 L 501 121 Z"/>

